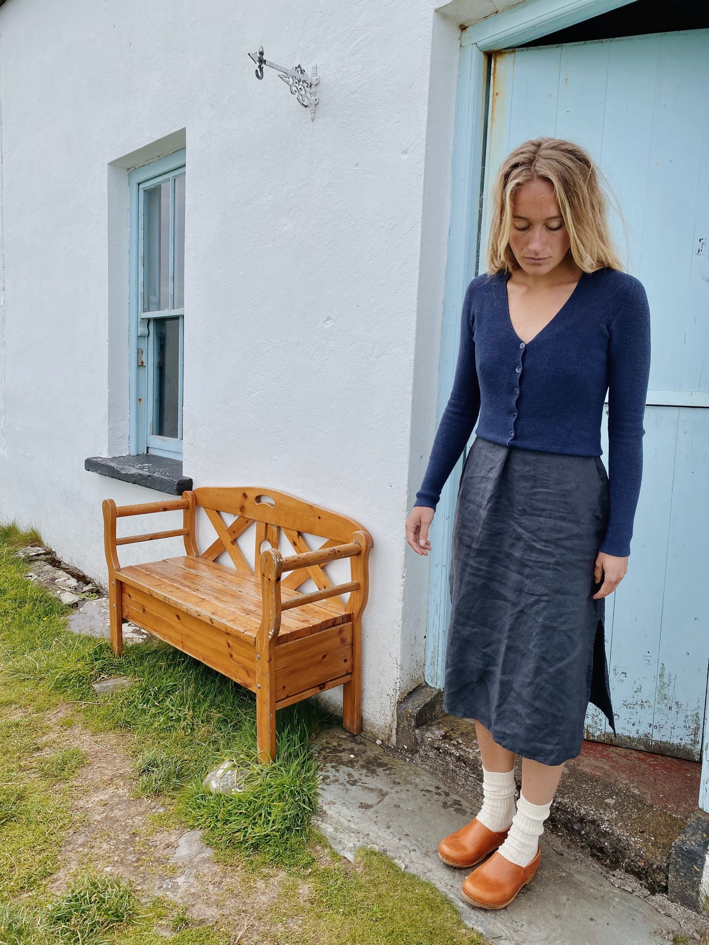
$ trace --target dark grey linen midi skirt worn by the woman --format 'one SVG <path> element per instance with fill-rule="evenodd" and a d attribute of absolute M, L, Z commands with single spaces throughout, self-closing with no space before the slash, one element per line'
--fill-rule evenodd
<path fill-rule="evenodd" d="M 444 709 L 544 765 L 575 758 L 589 701 L 614 728 L 594 565 L 608 476 L 597 456 L 476 438 L 458 487 Z"/>

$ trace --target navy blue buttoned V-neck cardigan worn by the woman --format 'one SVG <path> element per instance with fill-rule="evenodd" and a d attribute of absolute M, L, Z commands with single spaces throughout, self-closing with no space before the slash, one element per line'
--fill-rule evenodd
<path fill-rule="evenodd" d="M 474 279 L 465 292 L 458 364 L 417 506 L 435 508 L 477 421 L 476 436 L 503 446 L 600 456 L 608 392 L 611 503 L 599 550 L 630 554 L 643 468 L 649 309 L 645 288 L 603 267 L 579 283 L 525 343 L 514 331 L 509 272 Z"/>

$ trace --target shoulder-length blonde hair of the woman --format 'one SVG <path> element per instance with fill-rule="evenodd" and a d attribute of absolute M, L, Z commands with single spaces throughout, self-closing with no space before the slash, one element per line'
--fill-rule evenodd
<path fill-rule="evenodd" d="M 512 199 L 529 180 L 548 180 L 554 188 L 569 234 L 569 252 L 584 272 L 603 266 L 623 271 L 608 226 L 608 188 L 585 148 L 562 138 L 526 141 L 503 161 L 493 183 L 493 215 L 488 241 L 490 275 L 519 268 L 510 249 Z M 619 209 L 619 208 L 618 208 Z M 621 215 L 622 216 L 622 215 Z"/>

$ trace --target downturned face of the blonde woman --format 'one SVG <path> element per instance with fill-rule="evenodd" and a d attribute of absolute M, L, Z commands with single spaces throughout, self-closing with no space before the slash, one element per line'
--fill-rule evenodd
<path fill-rule="evenodd" d="M 529 275 L 543 276 L 559 266 L 569 249 L 554 188 L 548 180 L 529 180 L 512 199 L 510 249 Z"/>

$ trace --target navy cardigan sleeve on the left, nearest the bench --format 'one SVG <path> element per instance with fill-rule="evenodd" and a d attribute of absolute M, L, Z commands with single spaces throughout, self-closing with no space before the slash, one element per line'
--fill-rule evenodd
<path fill-rule="evenodd" d="M 480 387 L 477 381 L 476 343 L 473 333 L 474 292 L 474 283 L 470 283 L 460 318 L 460 348 L 453 389 L 436 431 L 424 482 L 416 493 L 417 506 L 437 506 L 441 489 L 476 425 L 480 409 Z"/>

